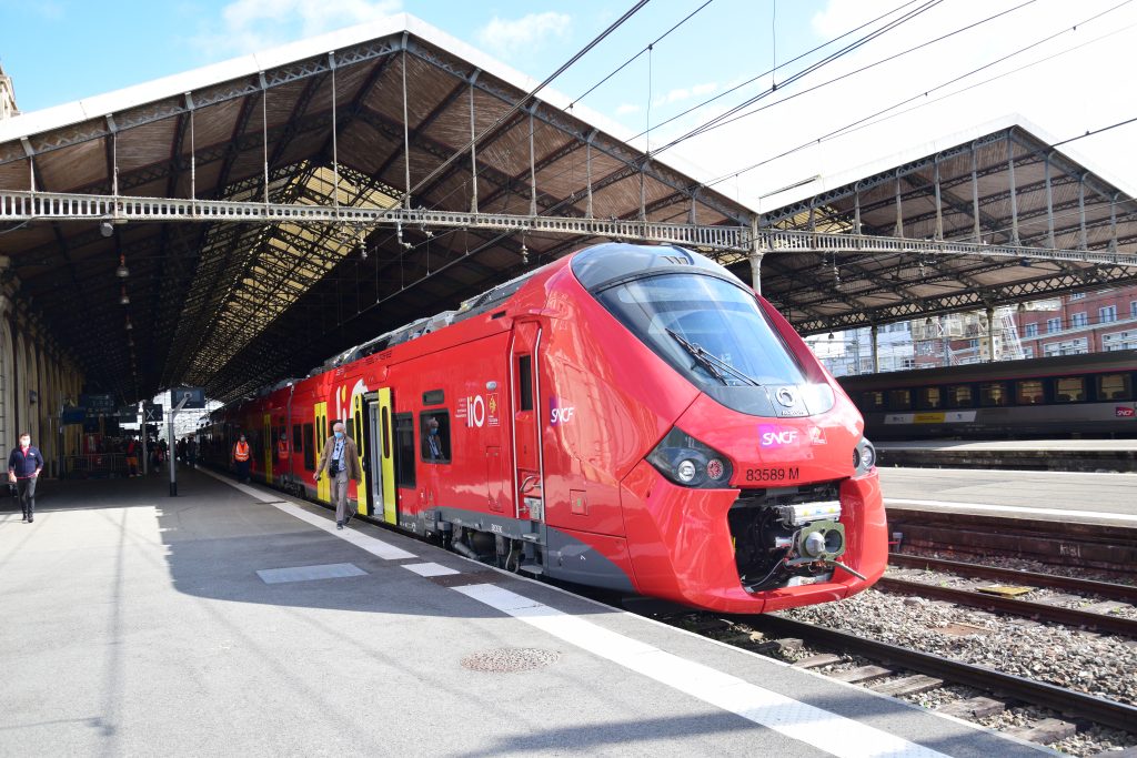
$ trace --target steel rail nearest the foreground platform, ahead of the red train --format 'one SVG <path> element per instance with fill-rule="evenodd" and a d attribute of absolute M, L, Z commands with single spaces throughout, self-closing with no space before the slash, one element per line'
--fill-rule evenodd
<path fill-rule="evenodd" d="M 794 636 L 821 642 L 838 650 L 845 650 L 877 660 L 887 660 L 896 666 L 903 666 L 945 681 L 966 684 L 987 692 L 997 691 L 1001 695 L 1051 708 L 1069 716 L 1080 716 L 1097 724 L 1112 726 L 1113 728 L 1132 731 L 1134 724 L 1137 724 L 1137 707 L 1135 706 L 1102 698 L 1096 694 L 1068 690 L 1056 684 L 1036 682 L 984 666 L 908 650 L 887 642 L 866 640 L 846 632 L 795 622 L 780 616 L 717 617 L 741 622 L 756 630 L 767 633 L 772 632 L 780 636 Z"/>

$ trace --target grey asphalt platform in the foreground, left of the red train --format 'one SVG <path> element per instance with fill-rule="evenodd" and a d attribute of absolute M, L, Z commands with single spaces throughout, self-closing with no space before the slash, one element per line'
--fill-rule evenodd
<path fill-rule="evenodd" d="M 1039 755 L 183 472 L 0 516 L 0 755 Z M 514 669 L 514 670 L 511 670 Z"/>

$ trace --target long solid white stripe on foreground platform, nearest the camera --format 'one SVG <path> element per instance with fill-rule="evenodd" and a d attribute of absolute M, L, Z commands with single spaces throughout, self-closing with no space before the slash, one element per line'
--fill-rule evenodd
<path fill-rule="evenodd" d="M 895 734 L 664 652 L 493 584 L 454 590 L 592 655 L 839 758 L 946 758 Z"/>

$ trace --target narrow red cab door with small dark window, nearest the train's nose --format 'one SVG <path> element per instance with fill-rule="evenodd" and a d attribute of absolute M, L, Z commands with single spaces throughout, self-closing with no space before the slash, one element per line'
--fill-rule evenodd
<path fill-rule="evenodd" d="M 513 328 L 509 347 L 509 384 L 513 403 L 514 514 L 545 520 L 545 456 L 541 450 L 538 358 L 541 327 L 532 322 Z"/>

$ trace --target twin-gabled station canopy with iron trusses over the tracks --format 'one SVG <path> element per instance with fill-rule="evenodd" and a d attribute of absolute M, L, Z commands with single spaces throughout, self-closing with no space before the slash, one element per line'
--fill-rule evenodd
<path fill-rule="evenodd" d="M 555 93 L 526 100 L 533 86 L 400 16 L 0 122 L 3 275 L 89 389 L 123 402 L 176 385 L 232 400 L 305 376 L 623 222 L 687 225 L 747 281 L 763 252 L 763 294 L 804 332 L 1137 277 L 1132 199 L 1021 125 L 760 216 Z M 59 201 L 20 217 L 9 195 L 28 191 Z M 231 205 L 67 217 L 65 200 L 88 195 Z M 396 208 L 467 220 L 366 220 Z M 515 222 L 543 217 L 604 223 Z"/>

